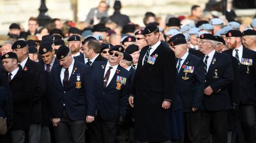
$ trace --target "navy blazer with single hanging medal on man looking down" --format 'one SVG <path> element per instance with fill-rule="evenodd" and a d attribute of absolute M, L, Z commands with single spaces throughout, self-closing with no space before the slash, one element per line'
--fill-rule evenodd
<path fill-rule="evenodd" d="M 68 116 L 73 121 L 85 120 L 86 116 L 95 116 L 95 87 L 92 78 L 91 68 L 78 61 L 75 61 L 73 73 L 71 74 L 66 90 L 63 89 L 60 80 L 61 65 L 52 68 L 58 107 L 66 105 Z M 80 74 L 81 87 L 77 87 L 77 76 Z"/>

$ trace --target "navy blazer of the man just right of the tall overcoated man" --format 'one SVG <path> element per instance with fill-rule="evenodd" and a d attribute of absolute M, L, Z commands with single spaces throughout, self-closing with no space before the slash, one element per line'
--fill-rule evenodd
<path fill-rule="evenodd" d="M 193 73 L 187 73 L 188 79 L 185 77 L 183 66 L 193 66 Z M 201 109 L 202 99 L 205 88 L 204 63 L 197 56 L 189 53 L 183 65 L 181 65 L 177 80 L 179 87 L 179 95 L 183 104 L 184 112 L 191 112 L 192 107 Z"/>

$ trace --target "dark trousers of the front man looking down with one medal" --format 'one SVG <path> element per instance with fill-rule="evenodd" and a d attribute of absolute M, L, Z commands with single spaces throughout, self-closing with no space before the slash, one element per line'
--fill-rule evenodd
<path fill-rule="evenodd" d="M 63 117 L 60 123 L 54 127 L 54 134 L 57 143 L 84 143 L 84 131 L 86 129 L 86 119 L 72 121 L 63 109 Z"/>

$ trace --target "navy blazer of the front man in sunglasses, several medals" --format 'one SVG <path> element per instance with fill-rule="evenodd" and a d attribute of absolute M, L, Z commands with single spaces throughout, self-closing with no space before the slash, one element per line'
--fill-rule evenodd
<path fill-rule="evenodd" d="M 126 115 L 131 73 L 118 65 L 117 71 L 105 88 L 103 87 L 103 77 L 107 62 L 95 62 L 93 66 L 93 79 L 97 89 L 96 109 L 103 120 L 116 122 L 119 116 Z M 117 76 L 126 78 L 126 84 L 122 84 L 120 90 L 117 89 Z"/>

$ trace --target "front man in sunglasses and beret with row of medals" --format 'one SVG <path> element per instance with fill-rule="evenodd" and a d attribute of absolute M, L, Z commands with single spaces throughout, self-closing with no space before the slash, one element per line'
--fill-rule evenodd
<path fill-rule="evenodd" d="M 95 62 L 96 119 L 89 126 L 90 142 L 115 142 L 117 124 L 126 115 L 131 73 L 119 65 L 124 48 L 115 45 L 109 50 L 109 60 Z M 102 84 L 103 83 L 103 84 Z M 111 96 L 111 98 L 109 98 Z M 102 140 L 103 139 L 103 140 Z"/>

